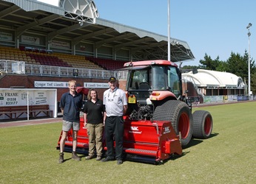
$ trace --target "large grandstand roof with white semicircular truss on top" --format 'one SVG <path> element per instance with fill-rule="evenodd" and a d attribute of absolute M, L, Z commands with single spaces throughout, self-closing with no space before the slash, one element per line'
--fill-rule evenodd
<path fill-rule="evenodd" d="M 93 1 L 60 0 L 56 7 L 33 0 L 0 0 L 0 22 L 1 29 L 14 29 L 16 38 L 33 32 L 46 35 L 47 40 L 62 38 L 73 44 L 90 42 L 96 49 L 128 50 L 134 61 L 167 60 L 166 36 L 98 18 Z M 170 44 L 172 62 L 195 59 L 186 41 L 171 38 Z"/>

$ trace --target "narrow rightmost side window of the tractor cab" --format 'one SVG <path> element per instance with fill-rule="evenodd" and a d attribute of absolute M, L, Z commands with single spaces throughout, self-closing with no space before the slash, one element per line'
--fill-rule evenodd
<path fill-rule="evenodd" d="M 181 80 L 175 67 L 169 67 L 167 70 L 168 88 L 176 97 L 181 95 Z"/>

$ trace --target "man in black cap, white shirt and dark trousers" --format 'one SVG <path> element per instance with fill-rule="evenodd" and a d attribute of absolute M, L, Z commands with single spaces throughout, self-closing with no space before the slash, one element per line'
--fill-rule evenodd
<path fill-rule="evenodd" d="M 107 162 L 117 160 L 117 164 L 123 163 L 123 137 L 124 137 L 124 113 L 127 111 L 127 96 L 125 92 L 117 87 L 115 77 L 110 77 L 110 88 L 104 91 L 103 104 L 107 113 L 105 121 L 105 136 L 107 144 L 107 157 L 101 160 Z M 115 138 L 115 154 L 113 148 Z"/>

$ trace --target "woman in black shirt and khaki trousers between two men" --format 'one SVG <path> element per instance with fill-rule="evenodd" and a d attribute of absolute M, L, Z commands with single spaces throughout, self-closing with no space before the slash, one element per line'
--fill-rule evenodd
<path fill-rule="evenodd" d="M 87 128 L 89 136 L 89 155 L 85 158 L 90 160 L 94 158 L 95 149 L 97 153 L 96 160 L 101 160 L 103 151 L 103 130 L 106 118 L 105 107 L 101 99 L 98 99 L 97 91 L 90 89 L 87 102 L 84 105 L 84 127 Z"/>

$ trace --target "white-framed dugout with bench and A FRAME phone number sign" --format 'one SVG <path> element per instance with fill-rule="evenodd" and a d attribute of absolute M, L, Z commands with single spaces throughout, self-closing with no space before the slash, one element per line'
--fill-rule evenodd
<path fill-rule="evenodd" d="M 0 121 L 57 118 L 57 90 L 0 88 Z"/>

